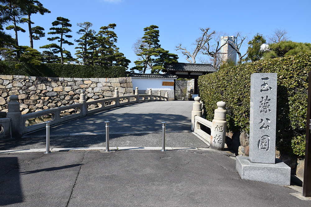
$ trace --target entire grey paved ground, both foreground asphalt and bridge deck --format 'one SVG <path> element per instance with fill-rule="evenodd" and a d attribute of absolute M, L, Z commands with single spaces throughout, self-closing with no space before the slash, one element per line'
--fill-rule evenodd
<path fill-rule="evenodd" d="M 190 132 L 192 103 L 139 103 L 53 126 L 50 144 L 58 152 L 49 154 L 45 129 L 0 141 L 0 205 L 311 205 L 294 196 L 301 187 L 241 180 L 231 153 L 210 150 Z M 110 152 L 104 151 L 107 120 Z"/>

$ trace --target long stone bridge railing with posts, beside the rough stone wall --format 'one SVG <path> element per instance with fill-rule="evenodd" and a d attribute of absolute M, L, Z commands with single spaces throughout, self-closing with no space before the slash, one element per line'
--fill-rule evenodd
<path fill-rule="evenodd" d="M 114 97 L 102 98 L 94 101 L 86 101 L 85 90 L 81 90 L 79 103 L 32 112 L 25 115 L 21 115 L 20 103 L 18 102 L 18 97 L 16 95 L 10 96 L 9 100 L 10 102 L 8 102 L 7 117 L 11 120 L 10 121 L 11 123 L 6 124 L 5 126 L 10 127 L 3 127 L 1 125 L 2 120 L 0 119 L 1 130 L 6 131 L 6 133 L 3 134 L 11 134 L 12 137 L 21 137 L 23 134 L 44 128 L 45 127 L 44 121 L 47 120 L 50 121 L 50 125 L 53 125 L 71 119 L 76 119 L 78 117 L 86 116 L 95 112 L 119 106 L 134 104 L 138 102 L 168 101 L 168 92 L 165 93 L 165 96 L 161 96 L 160 91 L 158 92 L 158 95 L 152 95 L 152 91 L 150 89 L 149 94 L 138 94 L 138 87 L 136 87 L 135 95 L 119 97 L 118 88 L 115 88 Z M 41 122 L 34 123 L 31 125 L 30 121 L 37 118 L 41 118 Z M 8 132 L 8 130 L 10 132 Z M 2 137 L 2 138 L 9 138 L 9 137 Z"/>

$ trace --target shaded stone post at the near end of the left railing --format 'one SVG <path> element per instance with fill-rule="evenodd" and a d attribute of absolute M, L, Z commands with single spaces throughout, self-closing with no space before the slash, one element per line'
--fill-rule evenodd
<path fill-rule="evenodd" d="M 20 104 L 18 102 L 18 96 L 9 96 L 9 100 L 10 102 L 7 103 L 7 118 L 11 118 L 12 137 L 21 137 L 23 123 L 21 121 L 21 111 L 19 110 Z"/>

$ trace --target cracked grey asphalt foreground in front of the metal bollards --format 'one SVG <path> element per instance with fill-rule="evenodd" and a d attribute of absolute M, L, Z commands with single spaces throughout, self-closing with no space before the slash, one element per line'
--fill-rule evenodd
<path fill-rule="evenodd" d="M 310 206 L 290 188 L 241 180 L 235 160 L 211 150 L 7 153 L 0 205 Z"/>

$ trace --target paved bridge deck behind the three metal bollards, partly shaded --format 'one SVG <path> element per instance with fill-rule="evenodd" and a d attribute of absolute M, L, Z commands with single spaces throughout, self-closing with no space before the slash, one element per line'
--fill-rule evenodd
<path fill-rule="evenodd" d="M 109 123 L 111 149 L 162 146 L 162 124 L 166 124 L 166 147 L 208 147 L 191 133 L 193 101 L 155 101 L 123 106 L 71 120 L 50 128 L 50 147 L 103 148 L 105 121 Z M 45 148 L 45 128 L 21 138 L 0 141 L 1 151 Z M 148 148 L 149 147 L 149 148 Z"/>

